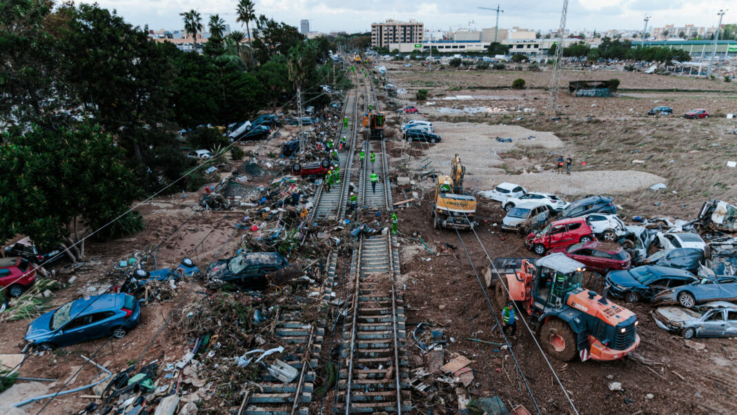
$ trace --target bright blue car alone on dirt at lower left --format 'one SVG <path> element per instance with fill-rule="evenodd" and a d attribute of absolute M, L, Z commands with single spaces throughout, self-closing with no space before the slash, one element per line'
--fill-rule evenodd
<path fill-rule="evenodd" d="M 93 338 L 121 338 L 139 323 L 141 307 L 130 294 L 102 294 L 68 302 L 28 325 L 26 341 L 41 350 Z"/>

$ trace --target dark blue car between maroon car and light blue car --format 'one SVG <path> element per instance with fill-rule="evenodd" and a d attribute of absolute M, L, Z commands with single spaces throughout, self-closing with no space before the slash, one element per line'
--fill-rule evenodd
<path fill-rule="evenodd" d="M 626 302 L 640 299 L 653 299 L 661 291 L 694 283 L 699 279 L 691 272 L 667 266 L 643 265 L 626 271 L 612 271 L 607 274 L 609 293 Z"/>

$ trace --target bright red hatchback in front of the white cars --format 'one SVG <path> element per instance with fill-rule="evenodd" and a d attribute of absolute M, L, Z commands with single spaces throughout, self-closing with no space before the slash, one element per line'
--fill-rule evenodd
<path fill-rule="evenodd" d="M 548 249 L 565 248 L 579 242 L 594 240 L 594 231 L 584 218 L 568 218 L 553 221 L 545 229 L 530 233 L 525 246 L 537 255 L 545 255 Z"/>

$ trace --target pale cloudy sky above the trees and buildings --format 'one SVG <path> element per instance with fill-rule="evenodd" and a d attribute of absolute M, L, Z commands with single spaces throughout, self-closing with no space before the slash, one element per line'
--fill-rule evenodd
<path fill-rule="evenodd" d="M 94 2 L 86 1 L 84 2 Z M 504 13 L 499 26 L 520 26 L 548 30 L 558 27 L 562 0 L 497 1 Z M 367 32 L 372 22 L 387 18 L 415 18 L 425 29 L 493 27 L 496 13 L 477 7 L 495 7 L 478 0 L 256 0 L 256 13 L 276 21 L 299 26 L 300 19 L 310 19 L 313 31 Z M 234 13 L 237 0 L 97 0 L 102 7 L 117 10 L 132 24 L 150 29 L 181 29 L 179 13 L 195 9 L 200 13 L 220 13 L 231 29 L 237 24 Z M 723 23 L 737 21 L 737 5 L 723 0 L 570 0 L 567 27 L 580 29 L 642 29 L 643 17 L 652 16 L 649 26 L 694 24 L 716 26 L 720 9 L 732 3 Z M 203 15 L 206 21 L 208 16 Z"/>

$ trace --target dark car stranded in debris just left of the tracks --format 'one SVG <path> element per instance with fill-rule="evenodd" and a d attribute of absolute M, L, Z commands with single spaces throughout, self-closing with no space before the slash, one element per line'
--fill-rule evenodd
<path fill-rule="evenodd" d="M 207 276 L 242 288 L 265 288 L 266 275 L 287 266 L 287 259 L 277 252 L 248 252 L 215 261 Z"/>

